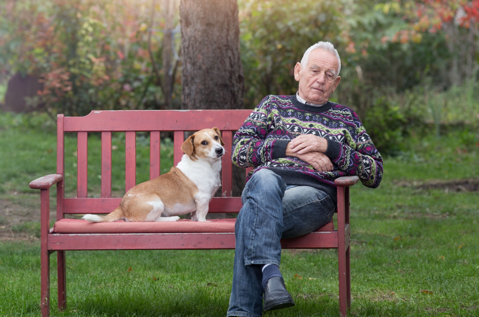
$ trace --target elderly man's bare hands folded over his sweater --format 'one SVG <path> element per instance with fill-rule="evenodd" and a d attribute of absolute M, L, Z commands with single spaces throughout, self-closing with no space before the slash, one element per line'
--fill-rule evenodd
<path fill-rule="evenodd" d="M 299 158 L 320 172 L 333 170 L 330 158 L 324 152 L 328 148 L 325 138 L 312 134 L 297 136 L 286 147 L 286 156 Z"/>

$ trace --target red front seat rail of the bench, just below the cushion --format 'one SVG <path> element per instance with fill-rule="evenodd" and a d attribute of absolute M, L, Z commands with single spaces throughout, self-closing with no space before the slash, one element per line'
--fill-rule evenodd
<path fill-rule="evenodd" d="M 282 249 L 338 248 L 338 232 L 281 239 Z M 234 233 L 49 234 L 48 250 L 234 249 Z"/>

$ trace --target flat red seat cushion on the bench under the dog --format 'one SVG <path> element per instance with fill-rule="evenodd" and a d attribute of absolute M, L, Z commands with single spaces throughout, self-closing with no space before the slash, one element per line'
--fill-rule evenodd
<path fill-rule="evenodd" d="M 61 219 L 53 226 L 55 233 L 218 233 L 235 232 L 235 218 L 211 219 L 197 222 L 189 219 L 161 222 L 90 222 L 82 219 Z M 316 231 L 333 231 L 334 223 L 327 223 Z"/>

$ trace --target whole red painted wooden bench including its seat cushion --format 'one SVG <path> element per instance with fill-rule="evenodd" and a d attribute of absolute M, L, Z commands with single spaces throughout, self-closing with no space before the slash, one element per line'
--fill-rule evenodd
<path fill-rule="evenodd" d="M 41 192 L 41 313 L 49 316 L 50 282 L 49 255 L 57 251 L 58 308 L 66 307 L 66 250 L 117 249 L 234 249 L 234 219 L 213 222 L 192 221 L 155 223 L 89 223 L 80 219 L 65 219 L 65 214 L 107 214 L 121 198 L 112 196 L 112 132 L 125 132 L 125 191 L 136 184 L 136 132 L 150 133 L 150 178 L 160 175 L 160 131 L 174 131 L 174 164 L 181 157 L 184 131 L 197 131 L 217 126 L 222 131 L 225 148 L 231 149 L 233 131 L 244 122 L 251 110 L 190 110 L 190 111 L 93 111 L 84 117 L 57 119 L 57 174 L 47 175 L 30 183 Z M 65 198 L 66 132 L 78 133 L 77 198 Z M 87 197 L 88 132 L 102 136 L 101 198 Z M 228 150 L 230 152 L 230 150 Z M 231 197 L 231 160 L 223 156 L 222 197 L 211 200 L 209 213 L 237 213 L 241 198 Z M 247 172 L 251 169 L 247 169 Z M 338 186 L 338 229 L 329 223 L 316 232 L 298 238 L 282 239 L 285 249 L 330 249 L 339 254 L 339 304 L 341 316 L 350 306 L 349 265 L 349 187 L 357 176 L 341 177 Z M 50 224 L 49 189 L 57 184 L 57 222 Z M 165 226 L 167 225 L 167 226 Z M 231 268 L 232 270 L 233 268 Z"/>

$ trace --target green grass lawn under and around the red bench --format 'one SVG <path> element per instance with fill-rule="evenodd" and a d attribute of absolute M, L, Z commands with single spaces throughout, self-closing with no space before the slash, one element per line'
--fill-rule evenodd
<path fill-rule="evenodd" d="M 18 129 L 0 131 L 2 162 L 12 137 L 17 144 L 14 148 L 21 152 L 16 163 L 0 165 L 0 172 L 13 178 L 3 181 L 0 199 L 15 204 L 31 191 L 24 181 L 55 168 L 55 155 L 48 152 L 55 148 L 55 133 L 36 127 Z M 352 188 L 351 316 L 479 316 L 477 192 L 418 190 L 402 184 L 478 178 L 479 147 L 458 142 L 460 133 L 411 138 L 408 152 L 385 159 L 379 188 Z M 97 146 L 95 137 L 91 136 L 91 144 Z M 121 157 L 121 137 L 115 140 Z M 74 149 L 75 138 L 68 142 Z M 34 149 L 27 150 L 29 147 Z M 94 149 L 91 154 L 94 158 Z M 35 158 L 44 164 L 32 164 Z M 143 163 L 138 161 L 141 167 Z M 73 166 L 73 162 L 68 164 Z M 18 164 L 23 166 L 17 168 Z M 48 166 L 53 171 L 44 170 Z M 92 176 L 95 173 L 98 171 L 91 170 Z M 121 175 L 121 169 L 114 170 L 116 173 Z M 73 182 L 67 182 L 67 188 L 75 192 L 75 179 L 67 181 Z M 97 186 L 91 185 L 92 195 Z M 121 186 L 117 190 L 121 191 Z M 36 226 L 32 219 L 12 229 L 34 235 Z M 233 250 L 68 251 L 68 308 L 60 313 L 56 308 L 56 256 L 52 254 L 51 314 L 226 316 L 233 257 Z M 264 315 L 338 316 L 337 268 L 334 250 L 284 250 L 281 270 L 297 306 Z M 0 272 L 0 316 L 40 316 L 39 241 L 0 241 Z M 422 292 L 425 290 L 429 293 Z"/>

